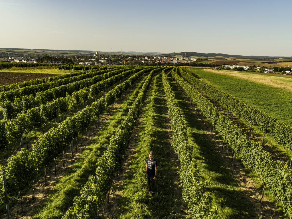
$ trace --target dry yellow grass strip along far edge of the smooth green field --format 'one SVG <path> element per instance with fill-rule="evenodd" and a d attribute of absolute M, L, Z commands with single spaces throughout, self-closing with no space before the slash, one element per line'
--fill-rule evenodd
<path fill-rule="evenodd" d="M 205 71 L 240 77 L 273 87 L 279 87 L 292 92 L 292 77 L 277 77 L 277 75 L 259 75 L 247 72 L 204 69 Z"/>

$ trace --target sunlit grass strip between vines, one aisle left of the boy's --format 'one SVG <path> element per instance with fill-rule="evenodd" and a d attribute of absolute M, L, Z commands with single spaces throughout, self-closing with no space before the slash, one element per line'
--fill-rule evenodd
<path fill-rule="evenodd" d="M 128 110 L 138 96 L 139 90 L 146 80 L 146 76 L 138 83 L 135 90 L 121 103 L 114 114 L 103 124 L 93 139 L 93 143 L 87 146 L 76 163 L 68 170 L 56 185 L 52 194 L 36 210 L 33 218 L 52 219 L 61 218 L 67 209 L 73 205 L 73 198 L 80 195 L 80 190 L 87 182 L 89 175 L 95 173 L 98 158 L 109 144 L 109 139 L 117 127 L 127 115 Z"/>

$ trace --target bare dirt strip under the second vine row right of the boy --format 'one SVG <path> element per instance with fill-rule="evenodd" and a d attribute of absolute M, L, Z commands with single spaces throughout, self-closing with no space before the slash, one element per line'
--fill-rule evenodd
<path fill-rule="evenodd" d="M 211 140 L 213 150 L 219 156 L 220 163 L 222 163 L 227 168 L 230 175 L 232 175 L 235 182 L 238 184 L 237 189 L 241 191 L 239 193 L 241 196 L 238 198 L 246 199 L 246 202 L 250 203 L 250 208 L 253 208 L 253 212 L 256 215 L 256 218 L 270 218 L 274 212 L 275 203 L 269 201 L 267 196 L 264 196 L 261 202 L 259 201 L 262 196 L 263 188 L 256 184 L 256 182 L 250 177 L 252 173 L 249 170 L 246 170 L 246 174 L 244 175 L 244 165 L 242 165 L 238 160 L 236 160 L 235 166 L 233 166 L 232 151 L 227 149 L 226 145 L 222 147 L 223 141 L 220 139 L 218 140 L 218 136 L 214 132 L 210 132 L 209 124 L 203 121 L 203 118 L 197 114 L 197 108 L 195 108 L 195 106 L 191 103 L 190 99 L 184 95 L 182 91 L 180 92 L 181 95 L 183 95 L 185 98 L 187 108 L 191 109 L 192 116 L 196 117 L 196 120 L 199 121 L 201 127 L 203 127 L 204 132 Z M 276 211 L 274 218 L 283 218 L 283 215 L 282 213 Z"/>

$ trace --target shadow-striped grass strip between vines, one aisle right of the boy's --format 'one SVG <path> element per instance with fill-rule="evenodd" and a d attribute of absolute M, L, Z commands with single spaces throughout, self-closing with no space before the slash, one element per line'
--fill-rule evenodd
<path fill-rule="evenodd" d="M 178 89 L 174 79 L 170 77 L 171 75 L 168 80 L 186 120 L 188 143 L 193 149 L 192 158 L 197 161 L 202 180 L 209 181 L 207 190 L 211 193 L 212 205 L 217 206 L 217 218 L 255 218 L 254 208 L 251 207 L 253 203 L 241 191 L 238 181 L 223 164 L 215 149 L 214 140 L 210 139 L 198 120 L 194 106 L 185 101 L 185 95 Z"/>

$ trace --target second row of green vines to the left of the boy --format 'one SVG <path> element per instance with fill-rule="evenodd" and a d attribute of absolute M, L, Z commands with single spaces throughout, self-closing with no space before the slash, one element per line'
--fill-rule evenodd
<path fill-rule="evenodd" d="M 51 165 L 54 157 L 69 147 L 69 143 L 76 135 L 85 131 L 85 128 L 103 114 L 105 108 L 113 104 L 133 83 L 149 70 L 145 68 L 139 71 L 122 84 L 109 91 L 105 97 L 98 99 L 79 111 L 72 117 L 68 117 L 57 128 L 52 128 L 48 133 L 39 138 L 33 145 L 32 151 L 22 148 L 16 156 L 11 156 L 6 169 L 6 184 L 9 196 L 15 196 L 19 190 L 27 187 L 39 177 L 42 170 Z M 64 152 L 63 152 L 64 153 Z M 3 166 L 0 165 L 2 170 Z M 0 197 L 4 197 L 3 178 L 0 178 Z M 20 189 L 21 188 L 21 189 Z"/>

